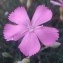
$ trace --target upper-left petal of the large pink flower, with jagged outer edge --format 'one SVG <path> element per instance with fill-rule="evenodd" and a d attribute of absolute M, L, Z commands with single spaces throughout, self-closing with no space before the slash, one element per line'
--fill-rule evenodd
<path fill-rule="evenodd" d="M 9 20 L 11 22 L 14 22 L 16 24 L 29 24 L 30 23 L 30 19 L 27 15 L 27 12 L 25 10 L 24 7 L 18 7 L 14 10 L 14 12 L 10 13 L 8 16 Z"/>

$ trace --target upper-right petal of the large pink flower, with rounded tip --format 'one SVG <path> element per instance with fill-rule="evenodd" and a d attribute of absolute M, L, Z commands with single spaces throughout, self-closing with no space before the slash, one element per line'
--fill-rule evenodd
<path fill-rule="evenodd" d="M 37 26 L 48 22 L 52 18 L 52 11 L 44 5 L 39 5 L 32 18 L 32 25 Z"/>

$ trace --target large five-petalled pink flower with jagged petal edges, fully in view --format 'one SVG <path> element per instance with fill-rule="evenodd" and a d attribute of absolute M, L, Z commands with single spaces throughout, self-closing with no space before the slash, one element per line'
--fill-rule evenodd
<path fill-rule="evenodd" d="M 46 27 L 43 24 L 51 20 L 52 11 L 44 5 L 39 5 L 30 19 L 24 7 L 18 7 L 9 15 L 9 20 L 15 24 L 6 24 L 4 27 L 4 38 L 7 41 L 23 38 L 18 46 L 25 56 L 36 54 L 40 48 L 40 42 L 45 46 L 52 46 L 59 38 L 58 30 Z"/>

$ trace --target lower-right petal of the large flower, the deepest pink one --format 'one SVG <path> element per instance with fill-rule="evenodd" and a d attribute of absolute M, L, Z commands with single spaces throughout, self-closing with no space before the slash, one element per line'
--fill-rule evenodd
<path fill-rule="evenodd" d="M 42 27 L 35 31 L 41 43 L 45 46 L 52 46 L 59 38 L 58 30 L 56 28 Z"/>

